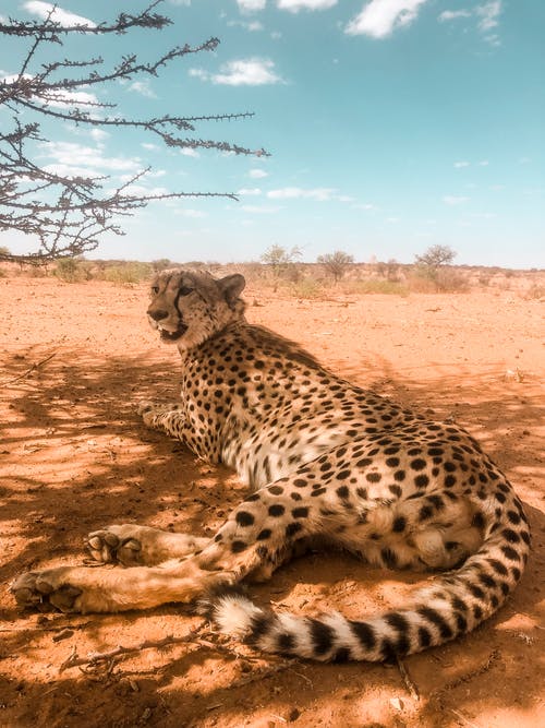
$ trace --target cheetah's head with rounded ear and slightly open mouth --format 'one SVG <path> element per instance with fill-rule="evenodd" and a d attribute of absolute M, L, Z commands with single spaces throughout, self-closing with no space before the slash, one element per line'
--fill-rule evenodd
<path fill-rule="evenodd" d="M 242 275 L 215 278 L 201 271 L 162 271 L 152 282 L 149 323 L 162 342 L 180 349 L 198 346 L 230 323 L 244 319 Z"/>

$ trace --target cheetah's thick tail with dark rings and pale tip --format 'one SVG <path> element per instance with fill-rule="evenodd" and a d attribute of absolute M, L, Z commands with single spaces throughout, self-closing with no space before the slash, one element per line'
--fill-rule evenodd
<path fill-rule="evenodd" d="M 220 632 L 263 652 L 319 661 L 383 661 L 440 645 L 471 632 L 505 601 L 522 575 L 530 535 L 502 528 L 453 572 L 439 574 L 419 590 L 411 607 L 363 621 L 339 612 L 317 618 L 263 609 L 239 587 L 199 602 Z"/>

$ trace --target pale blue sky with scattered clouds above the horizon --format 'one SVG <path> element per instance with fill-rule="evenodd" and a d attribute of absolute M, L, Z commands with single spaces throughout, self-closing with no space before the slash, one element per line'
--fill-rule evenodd
<path fill-rule="evenodd" d="M 36 19 L 46 5 L 3 0 L 0 15 Z M 59 7 L 96 23 L 145 2 Z M 162 32 L 52 50 L 152 60 L 217 36 L 213 53 L 96 95 L 135 118 L 254 111 L 198 136 L 271 156 L 190 156 L 137 132 L 46 123 L 41 164 L 116 180 L 152 165 L 147 189 L 239 193 L 154 203 L 93 256 L 250 261 L 277 243 L 306 261 L 344 250 L 412 262 L 439 243 L 460 264 L 545 266 L 543 0 L 168 0 L 159 12 L 173 21 Z M 23 48 L 2 45 L 0 73 L 19 70 Z"/>

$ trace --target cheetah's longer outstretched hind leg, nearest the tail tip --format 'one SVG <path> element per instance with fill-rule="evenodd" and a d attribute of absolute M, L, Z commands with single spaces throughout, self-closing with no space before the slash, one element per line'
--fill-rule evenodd
<path fill-rule="evenodd" d="M 261 580 L 319 530 L 320 499 L 299 505 L 278 485 L 241 503 L 199 554 L 156 566 L 63 566 L 20 576 L 11 589 L 23 607 L 49 602 L 66 612 L 118 612 L 169 601 L 191 601 L 213 587 L 245 576 Z"/>

